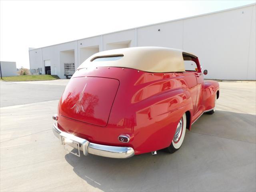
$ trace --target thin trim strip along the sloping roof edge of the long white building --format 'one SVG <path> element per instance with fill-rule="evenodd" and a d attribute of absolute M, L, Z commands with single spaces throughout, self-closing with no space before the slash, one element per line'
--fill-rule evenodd
<path fill-rule="evenodd" d="M 164 22 L 159 22 L 159 23 L 154 23 L 154 24 L 149 24 L 149 25 L 144 25 L 144 26 L 139 26 L 139 27 L 134 27 L 134 28 L 128 28 L 128 29 L 124 29 L 124 30 L 119 30 L 119 31 L 104 33 L 104 34 L 100 34 L 100 35 L 90 36 L 90 37 L 86 37 L 86 38 L 81 38 L 81 39 L 77 39 L 77 40 L 72 40 L 72 41 L 67 41 L 67 42 L 63 42 L 63 43 L 53 44 L 53 45 L 49 45 L 49 46 L 44 46 L 44 47 L 39 47 L 39 48 L 33 48 L 33 49 L 28 50 L 28 51 L 38 50 L 38 49 L 40 49 L 40 48 L 46 48 L 46 47 L 51 47 L 51 46 L 56 46 L 56 45 L 61 45 L 61 44 L 66 44 L 66 43 L 71 43 L 71 42 L 76 42 L 76 41 L 85 40 L 85 39 L 94 38 L 94 37 L 100 37 L 100 36 L 104 36 L 104 35 L 108 35 L 108 34 L 114 34 L 114 33 L 118 33 L 118 32 L 124 32 L 124 31 L 128 31 L 128 30 L 136 30 L 136 29 L 139 29 L 139 28 L 144 28 L 144 27 L 149 27 L 149 26 L 154 26 L 154 25 L 159 25 L 159 24 L 165 24 L 165 23 L 169 23 L 169 22 L 175 22 L 175 21 L 180 21 L 180 20 L 186 20 L 186 19 L 191 19 L 191 18 L 206 16 L 206 15 L 210 15 L 210 14 L 216 14 L 216 13 L 221 13 L 221 12 L 236 10 L 236 9 L 239 9 L 239 8 L 244 8 L 244 7 L 249 7 L 249 6 L 255 6 L 255 5 L 256 5 L 256 3 L 252 3 L 252 4 L 247 4 L 247 5 L 243 5 L 243 6 L 239 6 L 239 7 L 234 7 L 234 8 L 219 10 L 219 11 L 215 11 L 215 12 L 204 13 L 204 14 L 200 14 L 200 15 L 189 16 L 189 17 L 185 17 L 185 18 L 179 18 L 179 19 L 174 19 L 174 20 L 169 20 L 169 21 L 164 21 Z"/>

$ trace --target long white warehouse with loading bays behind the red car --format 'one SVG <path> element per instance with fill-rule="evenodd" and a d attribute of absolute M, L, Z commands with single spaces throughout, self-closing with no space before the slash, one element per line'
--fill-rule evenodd
<path fill-rule="evenodd" d="M 256 4 L 30 49 L 30 69 L 65 74 L 92 54 L 116 48 L 161 46 L 199 57 L 206 78 L 256 80 Z M 66 66 L 66 69 L 64 69 Z M 69 68 L 67 68 L 69 66 Z"/>

